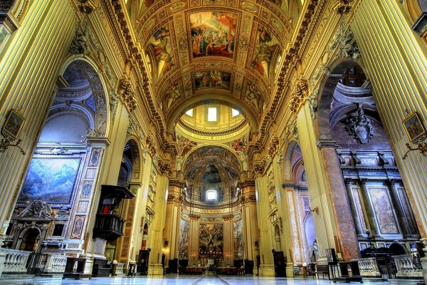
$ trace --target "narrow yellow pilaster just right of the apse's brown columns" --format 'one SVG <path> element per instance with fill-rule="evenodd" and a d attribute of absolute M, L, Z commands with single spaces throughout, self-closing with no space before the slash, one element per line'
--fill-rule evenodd
<path fill-rule="evenodd" d="M 274 260 L 271 250 L 273 238 L 270 219 L 268 218 L 268 189 L 267 177 L 258 173 L 255 177 L 256 212 L 258 214 L 258 229 L 260 230 L 260 275 L 274 276 Z"/>

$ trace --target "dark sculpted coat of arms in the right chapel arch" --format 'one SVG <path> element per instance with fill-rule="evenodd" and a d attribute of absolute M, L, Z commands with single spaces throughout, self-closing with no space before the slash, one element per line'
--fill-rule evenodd
<path fill-rule="evenodd" d="M 362 103 L 358 103 L 357 115 L 347 119 L 346 128 L 349 134 L 362 144 L 368 143 L 375 134 L 372 120 L 364 115 Z"/>

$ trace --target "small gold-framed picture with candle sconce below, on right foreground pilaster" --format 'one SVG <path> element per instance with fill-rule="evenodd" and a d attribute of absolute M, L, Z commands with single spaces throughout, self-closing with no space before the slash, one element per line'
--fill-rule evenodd
<path fill-rule="evenodd" d="M 427 156 L 427 143 L 424 142 L 427 137 L 427 133 L 423 123 L 416 112 L 405 110 L 405 113 L 406 118 L 402 123 L 404 124 L 406 135 L 408 135 L 409 140 L 413 144 L 416 144 L 416 147 L 411 147 L 409 142 L 406 142 L 408 151 L 405 152 L 402 160 L 406 159 L 406 157 L 408 157 L 408 153 L 413 150 L 418 150 L 421 152 L 421 155 Z"/>

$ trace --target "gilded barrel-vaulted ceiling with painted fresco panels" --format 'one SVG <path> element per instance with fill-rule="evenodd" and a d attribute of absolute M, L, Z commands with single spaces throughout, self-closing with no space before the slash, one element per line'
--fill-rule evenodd
<path fill-rule="evenodd" d="M 222 100 L 255 131 L 300 0 L 128 0 L 169 133 L 189 108 Z"/>

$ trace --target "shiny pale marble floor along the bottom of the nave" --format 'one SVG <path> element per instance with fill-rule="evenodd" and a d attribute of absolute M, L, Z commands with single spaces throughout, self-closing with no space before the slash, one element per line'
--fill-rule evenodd
<path fill-rule="evenodd" d="M 60 279 L 60 278 L 31 278 L 31 279 L 17 279 L 1 276 L 0 284 L 10 285 L 54 285 L 54 284 L 102 284 L 102 285 L 324 285 L 334 284 L 329 280 L 317 280 L 307 278 L 286 279 L 284 277 L 261 277 L 261 276 L 183 276 L 176 274 L 167 274 L 162 277 L 94 277 L 93 279 L 73 280 L 73 279 Z M 341 283 L 342 284 L 342 283 Z M 357 284 L 357 283 L 352 283 Z M 389 284 L 388 282 L 375 282 L 364 284 L 383 285 Z"/>

